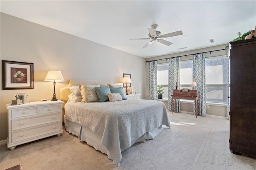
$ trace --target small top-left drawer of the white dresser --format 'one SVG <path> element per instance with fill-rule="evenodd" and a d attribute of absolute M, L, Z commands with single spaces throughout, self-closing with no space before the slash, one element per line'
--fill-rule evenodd
<path fill-rule="evenodd" d="M 26 109 L 12 110 L 12 118 L 32 116 L 32 115 L 38 115 L 38 114 L 39 114 L 38 107 L 28 107 Z"/>

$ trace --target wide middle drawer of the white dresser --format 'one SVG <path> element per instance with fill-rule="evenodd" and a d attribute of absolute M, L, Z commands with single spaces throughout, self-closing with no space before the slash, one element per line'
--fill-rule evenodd
<path fill-rule="evenodd" d="M 53 114 L 53 115 L 46 115 L 40 117 L 31 117 L 26 119 L 14 119 L 12 120 L 12 131 L 32 127 L 35 125 L 42 125 L 46 123 L 51 123 L 55 121 L 61 121 L 60 113 Z"/>

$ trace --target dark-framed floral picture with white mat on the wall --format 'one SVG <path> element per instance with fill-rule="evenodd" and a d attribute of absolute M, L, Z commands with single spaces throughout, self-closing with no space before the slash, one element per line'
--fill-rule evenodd
<path fill-rule="evenodd" d="M 3 90 L 34 89 L 33 63 L 2 61 Z"/>

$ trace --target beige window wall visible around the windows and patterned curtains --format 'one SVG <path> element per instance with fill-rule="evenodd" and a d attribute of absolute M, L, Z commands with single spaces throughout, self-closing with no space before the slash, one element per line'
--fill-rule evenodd
<path fill-rule="evenodd" d="M 170 55 L 152 57 L 152 58 L 146 59 L 146 61 L 164 59 L 164 60 L 158 61 L 158 64 L 161 64 L 161 63 L 168 63 L 168 58 L 188 55 L 187 57 L 180 58 L 180 61 L 184 61 L 184 60 L 192 59 L 192 55 L 190 55 L 190 54 L 225 49 L 226 45 L 228 45 L 228 44 L 218 45 L 218 46 L 213 46 L 213 47 L 208 47 L 208 48 L 202 48 L 202 49 L 197 49 L 197 50 L 191 50 L 191 51 L 186 51 L 186 52 L 182 52 L 182 53 L 175 53 L 175 54 L 170 54 Z M 226 53 L 227 53 L 227 50 L 216 51 L 216 52 L 212 52 L 212 53 L 205 53 L 205 57 L 215 57 L 215 56 L 220 56 L 220 55 L 226 55 Z M 167 59 L 167 60 L 165 60 L 165 59 Z M 145 88 L 145 90 L 146 90 L 146 92 L 148 92 L 148 90 L 149 90 L 148 63 L 146 63 L 146 88 Z M 148 93 L 146 93 L 146 99 L 149 99 Z M 168 102 L 164 102 L 164 104 L 168 108 Z M 223 105 L 218 106 L 218 105 L 212 105 L 212 104 L 207 104 L 207 105 L 210 107 L 208 109 L 206 109 L 206 114 L 227 117 L 227 107 L 226 106 L 223 106 Z M 181 107 L 181 111 L 193 113 L 193 104 L 181 103 L 180 107 Z"/>

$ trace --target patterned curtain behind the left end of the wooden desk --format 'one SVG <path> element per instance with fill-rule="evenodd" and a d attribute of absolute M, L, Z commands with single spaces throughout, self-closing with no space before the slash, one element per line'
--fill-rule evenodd
<path fill-rule="evenodd" d="M 168 110 L 174 111 L 175 106 L 172 106 L 173 89 L 176 89 L 175 83 L 180 86 L 180 57 L 170 58 L 168 61 Z M 173 107 L 173 108 L 172 108 Z M 176 99 L 176 112 L 180 112 L 180 100 Z"/>

